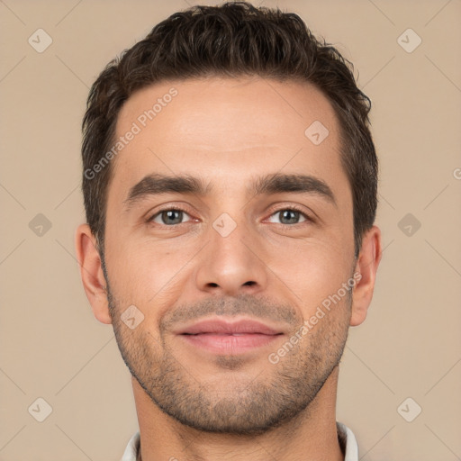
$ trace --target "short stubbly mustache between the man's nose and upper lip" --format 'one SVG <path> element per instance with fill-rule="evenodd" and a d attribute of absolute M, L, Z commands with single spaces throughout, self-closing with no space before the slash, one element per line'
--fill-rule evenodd
<path fill-rule="evenodd" d="M 293 327 L 303 322 L 300 313 L 290 304 L 277 303 L 267 297 L 240 294 L 238 297 L 212 297 L 194 304 L 180 304 L 162 317 L 160 330 L 169 330 L 177 322 L 199 320 L 210 315 L 248 315 Z"/>

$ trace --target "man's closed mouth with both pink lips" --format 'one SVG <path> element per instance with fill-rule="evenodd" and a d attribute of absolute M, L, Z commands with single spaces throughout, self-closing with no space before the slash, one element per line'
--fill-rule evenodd
<path fill-rule="evenodd" d="M 200 321 L 177 333 L 189 345 L 214 354 L 236 355 L 272 343 L 283 331 L 259 321 Z"/>

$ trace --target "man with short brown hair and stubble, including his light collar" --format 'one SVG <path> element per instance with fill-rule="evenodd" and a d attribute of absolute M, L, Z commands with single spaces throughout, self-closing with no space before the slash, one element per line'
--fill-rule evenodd
<path fill-rule="evenodd" d="M 357 460 L 336 422 L 381 258 L 369 100 L 296 14 L 173 14 L 97 78 L 77 255 L 140 431 L 123 460 Z"/>

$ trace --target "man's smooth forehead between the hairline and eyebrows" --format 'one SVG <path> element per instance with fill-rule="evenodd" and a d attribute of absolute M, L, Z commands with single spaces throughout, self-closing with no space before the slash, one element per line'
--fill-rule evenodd
<path fill-rule="evenodd" d="M 345 178 L 330 102 L 296 81 L 210 77 L 148 86 L 122 106 L 115 138 L 125 138 L 113 165 L 120 194 L 156 172 L 233 185 L 244 174 L 283 168 Z"/>

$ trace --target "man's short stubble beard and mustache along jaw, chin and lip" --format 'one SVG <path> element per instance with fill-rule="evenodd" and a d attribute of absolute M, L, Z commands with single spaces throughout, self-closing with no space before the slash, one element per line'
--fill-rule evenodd
<path fill-rule="evenodd" d="M 249 295 L 209 298 L 167 312 L 158 321 L 156 338 L 157 332 L 146 330 L 142 323 L 130 330 L 122 322 L 122 303 L 114 296 L 107 276 L 106 282 L 115 338 L 131 375 L 161 411 L 204 432 L 258 435 L 306 413 L 339 365 L 348 338 L 350 291 L 276 364 L 267 356 L 256 368 L 249 366 L 245 357 L 216 356 L 216 369 L 220 373 L 227 370 L 225 382 L 219 383 L 194 375 L 194 366 L 185 363 L 168 340 L 172 325 L 207 314 L 247 314 L 289 324 L 294 334 L 303 325 L 299 312 L 290 305 Z M 287 335 L 286 341 L 291 336 Z"/>

